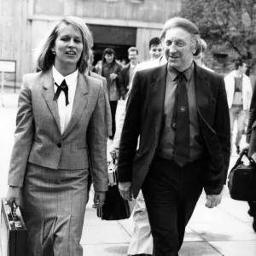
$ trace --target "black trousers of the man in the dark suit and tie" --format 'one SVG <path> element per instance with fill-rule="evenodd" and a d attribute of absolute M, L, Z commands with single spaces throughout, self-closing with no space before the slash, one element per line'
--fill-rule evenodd
<path fill-rule="evenodd" d="M 154 256 L 177 256 L 203 184 L 203 160 L 183 167 L 155 156 L 143 183 Z"/>

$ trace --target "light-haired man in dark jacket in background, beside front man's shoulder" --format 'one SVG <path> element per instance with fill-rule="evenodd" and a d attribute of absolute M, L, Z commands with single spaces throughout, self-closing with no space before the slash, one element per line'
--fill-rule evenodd
<path fill-rule="evenodd" d="M 119 74 L 119 84 L 125 88 L 126 93 L 131 86 L 134 71 L 138 64 L 138 49 L 136 47 L 130 47 L 128 49 L 128 59 L 130 63 L 125 65 Z"/>

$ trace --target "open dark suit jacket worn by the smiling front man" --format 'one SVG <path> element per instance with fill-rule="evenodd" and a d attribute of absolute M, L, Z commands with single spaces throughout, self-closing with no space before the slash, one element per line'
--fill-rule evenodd
<path fill-rule="evenodd" d="M 135 198 L 159 144 L 166 73 L 167 64 L 138 71 L 127 102 L 118 175 L 119 182 L 132 182 Z M 202 158 L 206 162 L 204 189 L 207 195 L 218 195 L 226 182 L 230 163 L 230 113 L 223 77 L 195 64 L 195 94 L 201 134 L 206 144 Z"/>

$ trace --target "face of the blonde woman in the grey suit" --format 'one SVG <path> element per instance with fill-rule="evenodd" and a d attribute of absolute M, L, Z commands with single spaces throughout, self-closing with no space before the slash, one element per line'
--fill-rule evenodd
<path fill-rule="evenodd" d="M 61 25 L 55 46 L 51 49 L 55 52 L 55 68 L 61 72 L 65 69 L 77 69 L 77 63 L 83 51 L 82 36 L 71 25 Z"/>

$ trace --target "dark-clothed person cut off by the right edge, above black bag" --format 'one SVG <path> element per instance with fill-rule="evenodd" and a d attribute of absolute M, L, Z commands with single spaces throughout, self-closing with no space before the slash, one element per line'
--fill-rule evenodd
<path fill-rule="evenodd" d="M 243 148 L 241 154 L 247 152 L 249 157 L 253 156 L 255 160 L 256 152 L 256 90 L 253 90 L 252 101 L 249 110 L 249 119 L 247 126 L 247 147 Z M 254 154 L 254 155 L 253 155 Z M 253 217 L 253 230 L 256 232 L 256 201 L 248 201 L 248 214 Z"/>

